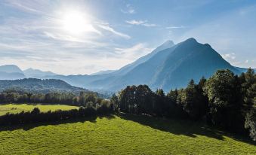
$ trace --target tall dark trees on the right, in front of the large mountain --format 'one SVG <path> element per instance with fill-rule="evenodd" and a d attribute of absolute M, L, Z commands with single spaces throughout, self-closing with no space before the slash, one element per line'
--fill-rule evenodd
<path fill-rule="evenodd" d="M 256 140 L 256 75 L 250 68 L 235 75 L 219 70 L 211 78 L 193 80 L 186 88 L 153 92 L 147 85 L 128 86 L 110 99 L 116 111 L 205 120 Z"/>

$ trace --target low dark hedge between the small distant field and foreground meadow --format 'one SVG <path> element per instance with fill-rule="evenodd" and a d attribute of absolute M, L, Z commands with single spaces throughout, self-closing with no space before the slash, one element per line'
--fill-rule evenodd
<path fill-rule="evenodd" d="M 99 115 L 105 116 L 113 112 L 113 108 L 108 103 L 109 102 L 103 102 L 103 104 L 100 104 L 97 107 L 87 105 L 86 107 L 71 109 L 69 111 L 57 110 L 42 112 L 39 108 L 34 108 L 32 111 L 22 111 L 17 114 L 7 113 L 0 116 L 0 125 L 44 123 L 82 117 L 95 117 Z"/>

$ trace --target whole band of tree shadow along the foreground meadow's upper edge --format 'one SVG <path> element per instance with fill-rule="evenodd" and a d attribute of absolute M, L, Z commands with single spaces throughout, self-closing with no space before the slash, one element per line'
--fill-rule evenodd
<path fill-rule="evenodd" d="M 150 126 L 153 129 L 157 129 L 163 132 L 170 132 L 174 135 L 186 135 L 191 138 L 196 138 L 196 135 L 203 135 L 209 138 L 215 138 L 223 141 L 224 136 L 235 139 L 236 141 L 242 141 L 248 144 L 256 145 L 255 141 L 251 141 L 250 138 L 245 135 L 237 135 L 229 132 L 224 132 L 221 129 L 215 129 L 210 126 L 206 126 L 205 123 L 195 122 L 191 120 L 182 119 L 163 119 L 162 117 L 150 117 L 146 115 L 134 115 L 134 114 L 118 114 L 124 120 L 131 120 L 136 123 L 140 123 L 143 126 Z M 14 131 L 17 129 L 29 130 L 38 126 L 48 126 L 48 125 L 59 125 L 65 123 L 85 123 L 90 121 L 91 123 L 96 123 L 97 117 L 106 118 L 111 120 L 115 118 L 113 114 L 100 115 L 94 117 L 83 117 L 69 120 L 61 120 L 47 123 L 30 123 L 30 124 L 20 124 L 11 126 L 0 126 L 0 132 L 2 131 Z"/>

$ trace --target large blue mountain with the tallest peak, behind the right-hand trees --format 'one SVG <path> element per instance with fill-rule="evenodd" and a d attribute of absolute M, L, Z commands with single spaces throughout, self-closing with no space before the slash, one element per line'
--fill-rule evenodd
<path fill-rule="evenodd" d="M 209 78 L 218 69 L 230 69 L 240 74 L 237 68 L 224 60 L 209 44 L 200 44 L 189 38 L 169 48 L 154 50 L 136 62 L 106 74 L 105 78 L 87 84 L 88 89 L 121 90 L 131 84 L 147 84 L 165 91 L 187 86 L 193 78 Z"/>

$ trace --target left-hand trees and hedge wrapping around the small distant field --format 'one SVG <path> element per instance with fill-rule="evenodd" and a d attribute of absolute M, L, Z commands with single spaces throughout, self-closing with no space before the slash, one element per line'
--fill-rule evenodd
<path fill-rule="evenodd" d="M 5 90 L 0 93 L 1 103 L 40 103 L 76 105 L 79 109 L 69 111 L 42 112 L 39 108 L 32 111 L 22 111 L 17 114 L 7 113 L 0 116 L 0 125 L 14 125 L 26 123 L 43 123 L 68 120 L 82 117 L 94 117 L 113 113 L 113 105 L 108 99 L 102 99 L 97 93 L 81 92 L 79 96 L 73 93 L 26 93 L 20 90 Z"/>

